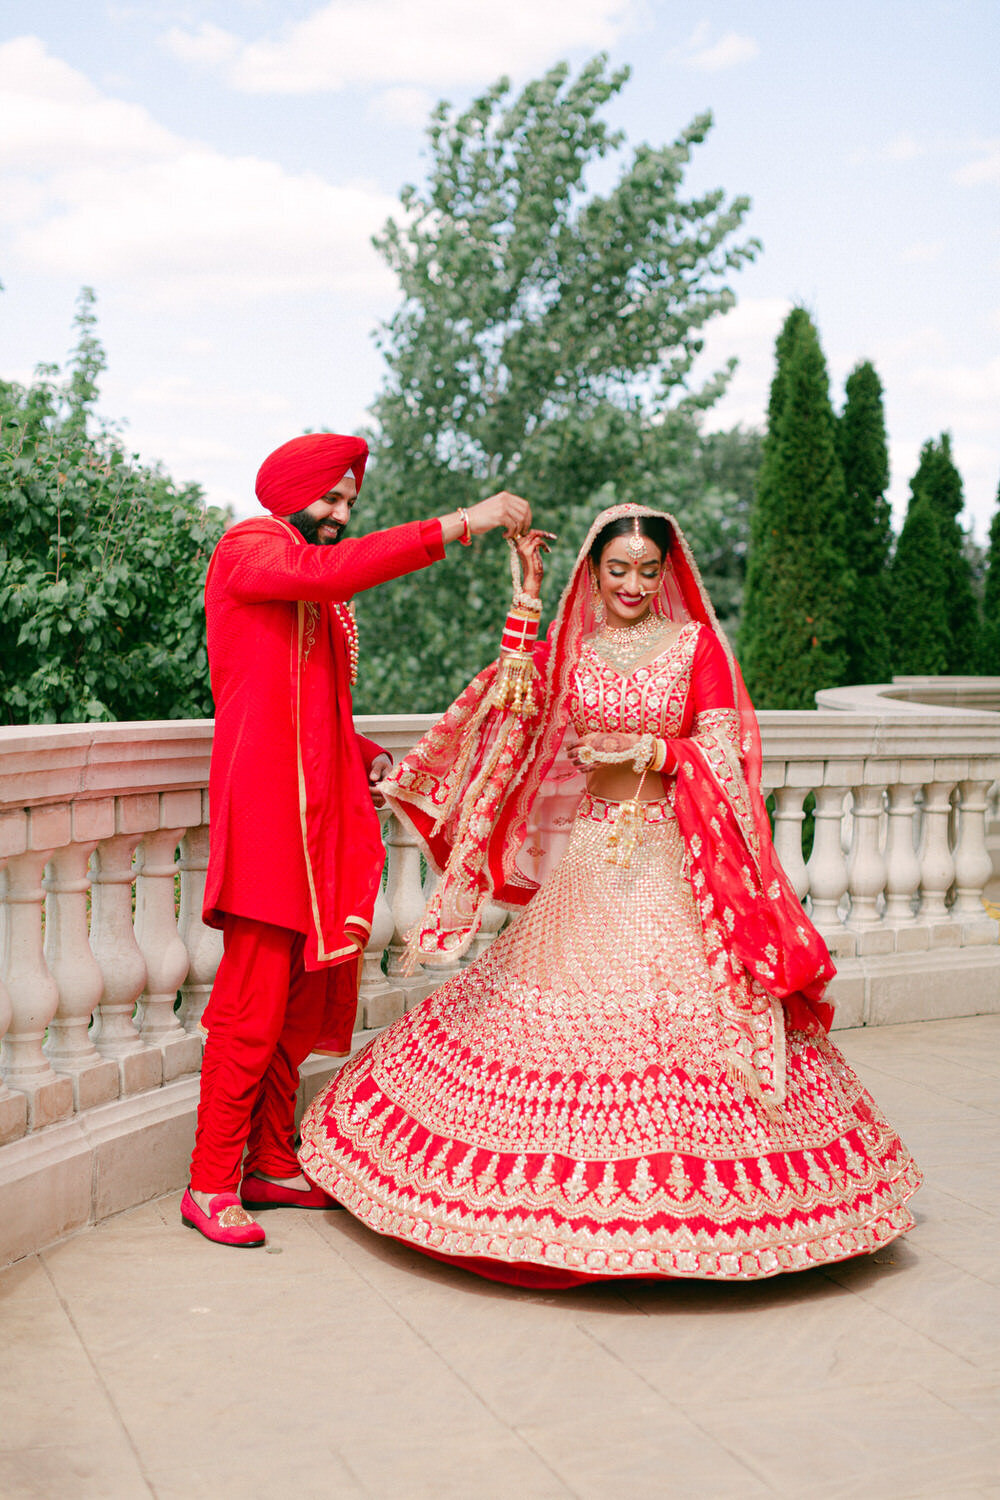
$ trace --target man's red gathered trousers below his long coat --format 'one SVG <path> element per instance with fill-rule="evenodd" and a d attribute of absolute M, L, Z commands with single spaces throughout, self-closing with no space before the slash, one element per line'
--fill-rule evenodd
<path fill-rule="evenodd" d="M 243 1172 L 298 1173 L 298 1068 L 327 1018 L 327 969 L 303 968 L 303 933 L 226 916 L 225 951 L 205 1006 L 205 1054 L 190 1185 L 235 1192 Z"/>

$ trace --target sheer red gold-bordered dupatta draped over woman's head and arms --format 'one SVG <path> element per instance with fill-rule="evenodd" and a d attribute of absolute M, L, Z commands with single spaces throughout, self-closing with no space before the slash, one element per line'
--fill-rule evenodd
<path fill-rule="evenodd" d="M 829 952 L 792 890 L 771 842 L 760 790 L 757 716 L 676 520 L 645 506 L 613 506 L 594 520 L 544 642 L 535 646 L 535 712 L 495 706 L 499 663 L 465 688 L 384 783 L 394 812 L 421 838 L 441 880 L 411 938 L 421 963 L 447 962 L 475 936 L 483 906 L 525 906 L 561 854 L 583 777 L 561 754 L 580 644 L 598 628 L 588 567 L 612 520 L 660 516 L 672 531 L 654 609 L 694 620 L 718 639 L 732 681 L 738 735 L 670 741 L 675 813 L 702 915 L 709 963 L 781 1000 L 790 1024 L 829 1029 Z"/>

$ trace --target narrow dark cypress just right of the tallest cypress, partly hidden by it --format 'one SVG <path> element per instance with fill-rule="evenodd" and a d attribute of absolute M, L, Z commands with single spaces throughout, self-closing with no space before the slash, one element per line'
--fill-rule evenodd
<path fill-rule="evenodd" d="M 847 400 L 837 424 L 844 470 L 844 554 L 853 574 L 847 614 L 847 681 L 885 682 L 891 672 L 886 638 L 888 566 L 892 544 L 889 448 L 882 381 L 865 360 L 847 376 Z"/>

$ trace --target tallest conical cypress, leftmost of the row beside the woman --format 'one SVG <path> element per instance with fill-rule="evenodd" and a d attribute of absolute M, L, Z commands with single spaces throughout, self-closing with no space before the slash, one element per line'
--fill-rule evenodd
<path fill-rule="evenodd" d="M 789 314 L 775 354 L 741 656 L 757 706 L 813 708 L 847 668 L 844 476 L 826 362 L 804 308 Z"/>

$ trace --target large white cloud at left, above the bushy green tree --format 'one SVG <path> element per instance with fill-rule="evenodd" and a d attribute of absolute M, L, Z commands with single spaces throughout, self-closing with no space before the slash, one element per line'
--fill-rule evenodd
<path fill-rule="evenodd" d="M 388 195 L 184 140 L 34 38 L 0 46 L 0 140 L 10 267 L 171 304 L 391 286 L 370 246 Z"/>

